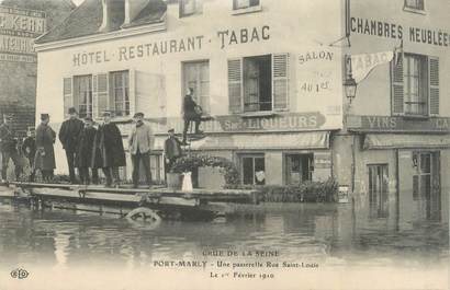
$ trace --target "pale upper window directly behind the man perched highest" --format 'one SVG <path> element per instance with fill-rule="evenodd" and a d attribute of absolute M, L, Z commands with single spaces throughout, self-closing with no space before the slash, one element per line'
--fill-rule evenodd
<path fill-rule="evenodd" d="M 194 61 L 183 63 L 183 92 L 192 88 L 193 98 L 203 112 L 210 112 L 210 62 Z"/>

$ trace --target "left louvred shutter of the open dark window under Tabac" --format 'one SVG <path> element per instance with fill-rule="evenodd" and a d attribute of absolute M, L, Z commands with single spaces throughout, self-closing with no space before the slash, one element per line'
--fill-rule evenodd
<path fill-rule="evenodd" d="M 228 109 L 230 114 L 243 112 L 243 60 L 228 59 Z"/>

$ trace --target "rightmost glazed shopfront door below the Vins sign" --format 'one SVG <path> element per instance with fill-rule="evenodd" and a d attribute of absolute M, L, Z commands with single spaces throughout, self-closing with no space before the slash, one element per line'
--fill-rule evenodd
<path fill-rule="evenodd" d="M 429 220 L 440 219 L 440 154 L 413 152 L 413 199 L 419 214 Z"/>

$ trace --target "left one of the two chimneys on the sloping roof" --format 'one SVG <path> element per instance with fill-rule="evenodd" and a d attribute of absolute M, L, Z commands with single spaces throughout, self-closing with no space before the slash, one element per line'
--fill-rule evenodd
<path fill-rule="evenodd" d="M 110 32 L 120 28 L 125 19 L 125 0 L 101 1 L 103 8 L 103 19 L 99 31 Z"/>

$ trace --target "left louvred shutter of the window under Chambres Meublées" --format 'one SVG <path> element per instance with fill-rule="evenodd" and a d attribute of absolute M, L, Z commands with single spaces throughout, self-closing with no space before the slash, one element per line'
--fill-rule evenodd
<path fill-rule="evenodd" d="M 403 86 L 403 55 L 400 56 L 397 63 L 391 61 L 391 100 L 392 115 L 404 115 L 404 86 Z"/>

